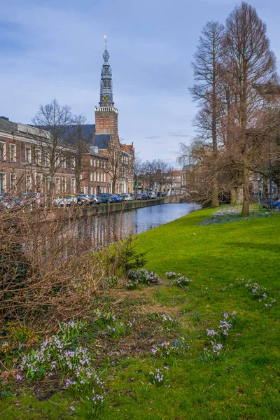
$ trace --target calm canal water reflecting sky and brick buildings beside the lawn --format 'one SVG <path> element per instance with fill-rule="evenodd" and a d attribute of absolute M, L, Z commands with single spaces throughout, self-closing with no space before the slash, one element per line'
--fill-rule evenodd
<path fill-rule="evenodd" d="M 97 249 L 125 237 L 158 228 L 198 209 L 200 206 L 197 204 L 161 204 L 113 212 L 109 214 L 109 218 L 107 214 L 92 216 L 78 222 L 78 237 L 84 245 L 87 243 L 87 249 Z"/>

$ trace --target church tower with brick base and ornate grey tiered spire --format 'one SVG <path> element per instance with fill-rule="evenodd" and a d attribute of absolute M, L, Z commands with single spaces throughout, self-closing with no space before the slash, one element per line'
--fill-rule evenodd
<path fill-rule="evenodd" d="M 109 64 L 109 52 L 107 50 L 107 40 L 105 38 L 105 50 L 103 53 L 104 63 L 101 69 L 101 81 L 100 81 L 100 102 L 99 107 L 95 107 L 95 134 L 111 134 L 110 140 L 118 140 L 118 109 L 114 107 L 113 103 L 113 82 L 112 82 L 112 70 Z M 94 142 L 99 143 L 99 141 Z M 102 136 L 103 137 L 103 136 Z M 104 143 L 105 137 L 99 137 Z M 102 144 L 96 144 L 99 148 Z M 104 144 L 105 146 L 105 144 Z"/>

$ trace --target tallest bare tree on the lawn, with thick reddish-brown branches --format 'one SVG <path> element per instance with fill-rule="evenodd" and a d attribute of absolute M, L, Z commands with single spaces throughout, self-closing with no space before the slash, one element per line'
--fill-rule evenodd
<path fill-rule="evenodd" d="M 242 2 L 226 20 L 225 78 L 235 92 L 230 130 L 235 139 L 232 160 L 243 176 L 244 197 L 241 215 L 249 213 L 249 173 L 255 168 L 262 144 L 271 130 L 265 123 L 267 100 L 258 88 L 274 85 L 276 59 L 269 49 L 267 28 L 255 8 Z M 261 123 L 260 123 L 261 121 Z M 257 125 L 257 127 L 256 127 Z"/>

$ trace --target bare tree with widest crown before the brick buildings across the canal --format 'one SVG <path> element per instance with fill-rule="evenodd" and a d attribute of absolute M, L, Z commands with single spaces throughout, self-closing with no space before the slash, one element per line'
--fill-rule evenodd
<path fill-rule="evenodd" d="M 48 177 L 52 195 L 55 194 L 55 183 L 53 182 L 55 172 L 66 161 L 66 155 L 63 152 L 67 149 L 67 144 L 66 141 L 63 141 L 63 137 L 72 121 L 71 108 L 67 105 L 60 106 L 57 99 L 52 99 L 50 104 L 40 105 L 32 120 L 32 124 L 41 130 L 41 137 L 37 141 L 41 143 L 43 158 L 50 168 Z M 49 135 L 46 135 L 46 132 Z"/>

